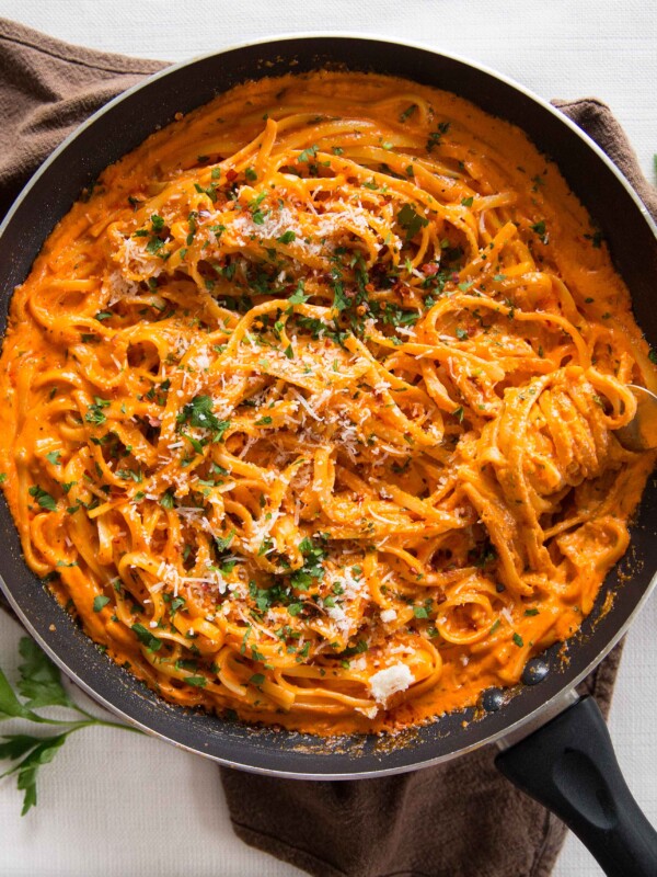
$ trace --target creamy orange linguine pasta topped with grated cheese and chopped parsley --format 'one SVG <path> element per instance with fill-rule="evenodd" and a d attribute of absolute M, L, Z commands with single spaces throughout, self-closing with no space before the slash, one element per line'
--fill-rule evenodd
<path fill-rule="evenodd" d="M 13 296 L 28 566 L 172 703 L 321 734 L 475 704 L 590 612 L 653 454 L 607 246 L 508 123 L 240 86 L 107 168 Z"/>

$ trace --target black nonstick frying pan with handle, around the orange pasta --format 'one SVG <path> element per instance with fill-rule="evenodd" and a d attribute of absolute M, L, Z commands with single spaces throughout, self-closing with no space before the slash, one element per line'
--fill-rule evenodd
<path fill-rule="evenodd" d="M 0 330 L 16 284 L 83 187 L 155 128 L 244 79 L 319 67 L 377 71 L 453 91 L 520 126 L 553 157 L 602 230 L 657 348 L 657 229 L 615 167 L 573 123 L 523 88 L 479 65 L 428 48 L 343 35 L 280 37 L 177 65 L 122 94 L 82 125 L 41 168 L 0 227 Z M 391 743 L 351 736 L 335 741 L 185 710 L 164 703 L 101 653 L 21 556 L 0 502 L 0 584 L 24 625 L 59 667 L 96 701 L 129 722 L 191 752 L 246 771 L 289 778 L 354 779 L 438 764 L 497 741 L 503 773 L 551 807 L 589 846 L 609 875 L 654 877 L 657 834 L 620 774 L 592 699 L 573 694 L 625 633 L 657 576 L 657 485 L 650 481 L 632 526 L 631 549 L 608 576 L 593 611 L 568 641 L 526 670 L 512 692 L 484 693 L 479 709 L 446 715 Z M 604 612 L 609 592 L 613 606 Z M 465 724 L 464 724 L 465 720 Z"/>

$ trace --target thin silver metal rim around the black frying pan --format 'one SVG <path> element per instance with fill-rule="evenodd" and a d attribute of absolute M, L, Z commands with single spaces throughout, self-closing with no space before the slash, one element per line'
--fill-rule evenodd
<path fill-rule="evenodd" d="M 73 143 L 84 130 L 90 128 L 91 126 L 95 125 L 96 122 L 102 118 L 106 113 L 111 112 L 114 106 L 120 104 L 126 99 L 128 99 L 131 94 L 150 87 L 153 82 L 164 79 L 171 75 L 175 75 L 177 71 L 194 66 L 199 61 L 219 57 L 222 55 L 227 55 L 231 52 L 253 48 L 257 46 L 272 46 L 273 44 L 279 43 L 288 43 L 288 42 L 299 42 L 308 43 L 309 41 L 325 41 L 325 39 L 343 39 L 343 41 L 359 41 L 359 42 L 367 42 L 367 43 L 374 43 L 379 45 L 388 45 L 388 46 L 395 46 L 395 47 L 407 47 L 411 49 L 418 50 L 420 53 L 433 55 L 437 57 L 443 57 L 449 60 L 453 60 L 457 62 L 461 62 L 466 65 L 468 67 L 474 68 L 486 76 L 503 82 L 505 86 L 510 87 L 514 91 L 520 92 L 525 96 L 529 98 L 534 103 L 539 104 L 544 111 L 548 111 L 551 115 L 558 119 L 562 125 L 568 127 L 574 134 L 576 134 L 584 143 L 591 149 L 597 158 L 601 160 L 606 166 L 607 169 L 610 170 L 618 181 L 622 184 L 624 190 L 626 191 L 627 195 L 634 202 L 636 208 L 638 209 L 639 214 L 642 215 L 644 221 L 647 223 L 649 229 L 652 230 L 653 235 L 657 238 L 657 225 L 653 220 L 652 216 L 649 215 L 646 206 L 643 204 L 627 179 L 621 173 L 618 167 L 611 161 L 609 156 L 598 146 L 598 144 L 592 140 L 589 135 L 581 130 L 574 122 L 569 118 L 565 117 L 562 113 L 558 112 L 554 106 L 552 106 L 548 101 L 540 98 L 531 90 L 527 89 L 525 86 L 516 82 L 510 77 L 507 77 L 503 73 L 499 73 L 496 70 L 488 68 L 485 65 L 480 64 L 479 61 L 472 60 L 470 58 L 463 57 L 461 55 L 452 54 L 450 52 L 445 52 L 441 49 L 435 49 L 430 46 L 427 46 L 423 43 L 414 42 L 414 41 L 403 41 L 403 39 L 392 39 L 388 36 L 378 36 L 378 35 L 370 35 L 370 34 L 358 34 L 358 33 L 350 33 L 350 32 L 304 32 L 304 33 L 283 33 L 277 34 L 269 37 L 262 37 L 258 39 L 249 39 L 240 43 L 231 44 L 224 48 L 219 50 L 205 53 L 203 55 L 196 56 L 188 60 L 180 61 L 175 65 L 170 65 L 164 67 L 162 70 L 155 72 L 152 76 L 146 77 L 141 82 L 132 86 L 130 89 L 122 92 L 119 95 L 114 98 L 107 104 L 102 106 L 97 110 L 93 115 L 91 115 L 85 122 L 83 122 L 74 132 L 72 132 L 58 147 L 57 149 L 46 159 L 46 161 L 41 166 L 41 168 L 34 173 L 27 184 L 24 186 L 15 202 L 13 203 L 12 207 L 8 212 L 4 220 L 0 225 L 0 239 L 2 238 L 5 228 L 12 221 L 12 218 L 16 210 L 22 205 L 23 201 L 30 195 L 32 189 L 38 183 L 42 175 L 47 171 L 47 169 L 57 160 L 57 158 L 65 152 L 69 145 Z M 24 560 L 22 560 L 24 562 Z M 634 605 L 633 610 L 630 612 L 629 616 L 626 617 L 625 622 L 621 625 L 619 629 L 614 631 L 609 640 L 606 641 L 603 648 L 597 653 L 597 656 L 584 668 L 573 680 L 569 680 L 566 684 L 564 684 L 556 694 L 552 697 L 543 701 L 541 705 L 537 708 L 530 710 L 521 718 L 517 719 L 514 722 L 506 725 L 503 729 L 498 731 L 494 731 L 493 733 L 486 736 L 484 739 L 476 740 L 475 742 L 466 745 L 461 745 L 449 753 L 445 753 L 438 755 L 433 759 L 423 759 L 418 762 L 414 762 L 411 764 L 403 764 L 399 766 L 392 767 L 381 767 L 377 770 L 355 770 L 349 772 L 299 772 L 299 771 L 285 771 L 279 768 L 270 768 L 270 767 L 263 767 L 261 765 L 253 765 L 253 764 L 244 764 L 242 762 L 232 761 L 227 758 L 222 758 L 215 753 L 204 752 L 197 749 L 194 745 L 188 745 L 180 740 L 172 739 L 165 733 L 161 731 L 154 730 L 152 727 L 142 724 L 140 720 L 134 718 L 132 716 L 128 715 L 127 713 L 123 711 L 123 709 L 115 704 L 107 701 L 102 694 L 96 692 L 92 685 L 88 682 L 82 680 L 79 674 L 68 667 L 66 660 L 59 657 L 58 653 L 48 645 L 48 642 L 42 637 L 41 634 L 35 629 L 34 625 L 23 612 L 21 606 L 19 605 L 18 601 L 13 596 L 11 590 L 7 585 L 4 579 L 0 576 L 0 586 L 9 603 L 11 604 L 12 608 L 15 611 L 16 615 L 21 618 L 23 625 L 26 629 L 31 633 L 31 635 L 36 639 L 39 646 L 46 651 L 46 653 L 55 661 L 55 663 L 65 671 L 65 673 L 72 679 L 76 684 L 79 685 L 87 694 L 89 694 L 93 699 L 100 703 L 102 706 L 107 708 L 110 711 L 114 713 L 115 715 L 122 717 L 124 720 L 129 722 L 130 725 L 140 728 L 141 730 L 148 732 L 151 736 L 158 737 L 165 742 L 172 743 L 178 749 L 183 749 L 188 752 L 193 752 L 195 754 L 199 754 L 204 758 L 210 759 L 219 764 L 223 764 L 230 767 L 238 767 L 240 770 L 244 770 L 252 773 L 265 774 L 269 776 L 280 776 L 285 778 L 302 778 L 302 779 L 355 779 L 355 778 L 364 778 L 364 777 L 377 777 L 377 776 L 388 776 L 393 774 L 405 773 L 412 770 L 417 770 L 419 767 L 428 767 L 436 764 L 445 763 L 453 758 L 459 755 L 465 754 L 468 752 L 473 751 L 474 749 L 479 749 L 483 745 L 487 745 L 489 743 L 494 743 L 497 740 L 500 740 L 508 734 L 515 733 L 519 731 L 521 728 L 530 726 L 532 722 L 537 722 L 540 720 L 541 716 L 545 713 L 550 711 L 551 709 L 556 709 L 557 705 L 562 701 L 566 701 L 568 697 L 568 693 L 572 692 L 579 682 L 588 674 L 590 671 L 597 667 L 601 660 L 611 651 L 611 649 L 616 645 L 616 642 L 621 639 L 621 637 L 625 634 L 636 615 L 641 612 L 641 610 L 645 606 L 647 600 L 649 599 L 653 589 L 657 585 L 657 571 L 653 574 L 650 582 L 645 588 L 643 594 L 637 600 L 636 604 Z M 91 640 L 90 640 L 91 641 Z M 164 703 L 164 702 L 163 702 Z M 293 753 L 290 752 L 290 755 Z M 330 759 L 327 759 L 327 763 Z M 354 762 L 354 765 L 357 765 L 357 761 Z"/>

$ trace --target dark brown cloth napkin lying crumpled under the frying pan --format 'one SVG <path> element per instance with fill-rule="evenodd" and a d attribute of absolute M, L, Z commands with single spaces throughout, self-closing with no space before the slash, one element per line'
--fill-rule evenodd
<path fill-rule="evenodd" d="M 0 20 L 0 215 L 66 135 L 163 66 Z M 595 99 L 554 103 L 600 144 L 657 216 L 657 193 L 609 107 Z M 619 660 L 620 647 L 583 684 L 604 714 Z M 226 767 L 221 779 L 235 834 L 318 877 L 545 877 L 565 828 L 504 779 L 494 756 L 487 747 L 438 767 L 342 783 Z"/>

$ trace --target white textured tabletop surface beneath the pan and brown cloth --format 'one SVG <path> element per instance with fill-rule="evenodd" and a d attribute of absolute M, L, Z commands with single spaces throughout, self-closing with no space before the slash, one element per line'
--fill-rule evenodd
<path fill-rule="evenodd" d="M 655 182 L 657 4 L 639 0 L 0 0 L 0 15 L 95 48 L 183 60 L 233 43 L 308 31 L 395 36 L 473 58 L 543 98 L 596 95 L 625 127 Z M 657 601 L 627 637 L 610 728 L 635 797 L 657 824 Z M 0 667 L 15 677 L 16 624 L 0 616 Z M 13 722 L 3 732 L 14 731 Z M 238 841 L 217 768 L 113 729 L 71 738 L 43 768 L 39 804 L 21 819 L 0 783 L 5 877 L 298 877 Z M 569 836 L 555 877 L 600 870 Z M 474 877 L 474 876 L 473 876 Z M 630 877 L 630 876 L 629 876 Z"/>

